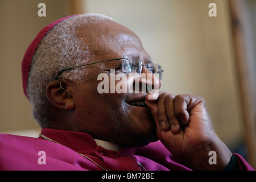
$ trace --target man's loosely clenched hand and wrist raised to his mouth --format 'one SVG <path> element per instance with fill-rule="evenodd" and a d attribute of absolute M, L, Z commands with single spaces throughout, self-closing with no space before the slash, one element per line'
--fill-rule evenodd
<path fill-rule="evenodd" d="M 158 100 L 148 100 L 156 123 L 158 138 L 181 162 L 195 170 L 223 170 L 232 153 L 213 130 L 205 101 L 191 95 L 160 93 Z M 217 164 L 208 162 L 209 151 L 217 154 Z"/>

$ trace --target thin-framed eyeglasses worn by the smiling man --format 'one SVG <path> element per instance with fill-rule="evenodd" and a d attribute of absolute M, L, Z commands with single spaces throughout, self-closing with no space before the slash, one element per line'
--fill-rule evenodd
<path fill-rule="evenodd" d="M 148 63 L 147 65 L 144 65 L 144 64 L 142 64 L 141 60 L 132 60 L 131 58 L 125 58 L 125 57 L 99 61 L 96 63 L 103 63 L 106 61 L 116 61 L 116 60 L 122 60 L 122 71 L 124 71 L 125 73 L 136 72 L 136 73 L 141 74 L 142 67 L 146 67 L 151 73 L 158 73 L 159 79 L 162 80 L 163 69 L 159 64 Z M 55 76 L 55 78 L 53 80 L 59 80 L 60 74 L 63 73 L 64 71 L 68 71 L 70 69 L 84 67 L 84 66 L 92 65 L 92 64 L 96 64 L 96 63 L 89 63 L 89 64 L 84 64 L 84 65 L 79 65 L 76 67 L 64 68 L 61 71 L 57 72 L 57 75 Z"/>

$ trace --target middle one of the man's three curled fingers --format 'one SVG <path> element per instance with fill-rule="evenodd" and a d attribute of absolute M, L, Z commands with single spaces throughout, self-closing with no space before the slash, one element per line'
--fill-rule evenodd
<path fill-rule="evenodd" d="M 164 99 L 164 104 L 166 105 L 166 115 L 172 134 L 179 133 L 180 131 L 180 122 L 174 113 L 174 98 L 174 95 L 169 94 Z"/>

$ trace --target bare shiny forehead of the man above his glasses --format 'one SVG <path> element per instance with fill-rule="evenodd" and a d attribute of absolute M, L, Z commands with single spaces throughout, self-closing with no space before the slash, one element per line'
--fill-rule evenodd
<path fill-rule="evenodd" d="M 112 20 L 85 24 L 78 35 L 99 59 L 113 59 L 123 55 L 148 56 L 141 40 L 131 30 Z"/>

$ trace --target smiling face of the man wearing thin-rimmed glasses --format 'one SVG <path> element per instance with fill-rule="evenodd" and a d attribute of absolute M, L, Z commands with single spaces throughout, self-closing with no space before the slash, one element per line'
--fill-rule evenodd
<path fill-rule="evenodd" d="M 140 59 L 143 64 L 151 62 L 139 38 L 126 27 L 108 21 L 93 24 L 90 28 L 80 31 L 80 37 L 93 50 L 95 59 L 92 63 L 123 56 Z M 110 86 L 110 69 L 117 70 L 121 63 L 121 60 L 107 61 L 80 68 L 86 69 L 86 75 L 85 81 L 76 84 L 73 92 L 76 124 L 79 125 L 81 132 L 88 133 L 96 139 L 108 140 L 121 146 L 143 146 L 157 140 L 150 110 L 143 105 L 132 105 L 133 102 L 143 102 L 146 93 L 98 93 L 98 84 L 102 82 L 97 80 L 98 75 L 108 75 Z M 143 67 L 142 73 L 150 72 Z M 153 74 L 152 76 L 154 77 Z M 134 78 L 128 76 L 122 81 L 127 81 L 127 85 L 134 84 Z M 120 81 L 115 81 L 115 85 L 118 82 Z M 147 80 L 142 82 L 149 84 Z"/>

